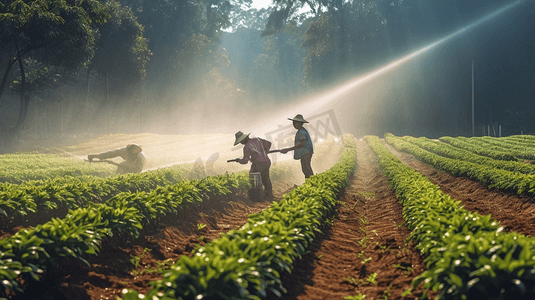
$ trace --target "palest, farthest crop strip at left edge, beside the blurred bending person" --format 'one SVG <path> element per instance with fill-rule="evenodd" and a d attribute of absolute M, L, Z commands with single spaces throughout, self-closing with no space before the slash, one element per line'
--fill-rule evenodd
<path fill-rule="evenodd" d="M 3 154 L 0 155 L 0 166 L 0 182 L 15 184 L 60 176 L 108 177 L 114 175 L 116 169 L 104 163 L 90 165 L 81 159 L 54 154 Z"/>

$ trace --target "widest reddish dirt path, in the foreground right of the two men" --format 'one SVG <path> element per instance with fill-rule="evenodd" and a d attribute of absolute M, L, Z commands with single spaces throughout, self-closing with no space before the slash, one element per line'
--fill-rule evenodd
<path fill-rule="evenodd" d="M 333 225 L 317 236 L 292 274 L 283 276 L 284 300 L 421 297 L 421 289 L 402 296 L 425 264 L 413 243 L 406 243 L 402 206 L 366 142 L 357 141 L 357 164 Z"/>

